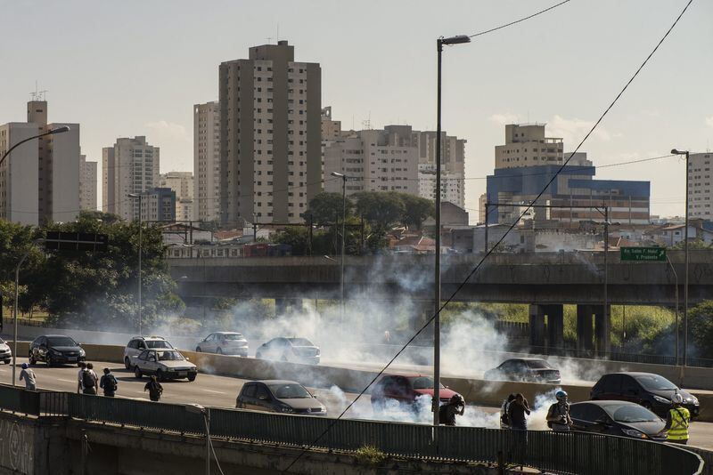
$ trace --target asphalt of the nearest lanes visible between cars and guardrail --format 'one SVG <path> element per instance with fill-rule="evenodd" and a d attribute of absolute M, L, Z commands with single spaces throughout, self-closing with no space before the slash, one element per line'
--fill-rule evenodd
<path fill-rule="evenodd" d="M 18 378 L 20 377 L 19 366 L 24 362 L 27 362 L 27 358 L 18 358 Z M 148 393 L 143 390 L 148 378 L 143 377 L 138 380 L 132 372 L 117 363 L 94 362 L 94 370 L 97 374 L 102 374 L 104 367 L 111 368 L 111 372 L 117 377 L 119 397 L 148 400 Z M 45 390 L 77 391 L 77 366 L 47 367 L 40 363 L 32 368 L 37 376 L 37 387 Z M 186 380 L 163 382 L 164 391 L 161 400 L 174 404 L 198 403 L 209 407 L 235 407 L 235 398 L 246 381 L 248 380 L 229 376 L 198 374 L 194 382 Z M 12 364 L 0 365 L 0 382 L 12 383 Z M 354 393 L 341 393 L 339 390 L 328 388 L 309 388 L 309 390 L 324 403 L 331 416 L 339 415 L 344 407 L 356 397 Z M 496 417 L 496 413 L 499 412 L 496 407 L 468 407 L 466 410 L 469 412 L 479 411 L 485 415 L 492 415 L 492 417 Z M 369 396 L 365 395 L 359 399 L 351 411 L 353 411 L 351 414 L 354 414 L 354 417 L 371 418 L 373 412 Z M 713 423 L 691 423 L 690 443 L 693 446 L 713 450 Z"/>

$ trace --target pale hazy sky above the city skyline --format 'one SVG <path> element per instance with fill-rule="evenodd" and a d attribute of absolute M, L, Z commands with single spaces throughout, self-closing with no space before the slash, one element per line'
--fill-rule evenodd
<path fill-rule="evenodd" d="M 82 150 L 100 167 L 102 147 L 146 135 L 161 148 L 162 173 L 193 171 L 193 104 L 217 100 L 218 64 L 275 43 L 279 26 L 297 60 L 321 63 L 323 106 L 345 128 L 370 118 L 374 128 L 433 129 L 436 37 L 473 34 L 554 3 L 0 0 L 0 123 L 25 120 L 37 81 L 50 120 L 80 123 Z M 571 0 L 448 48 L 443 125 L 468 141 L 466 177 L 492 173 L 505 123 L 546 122 L 548 136 L 573 149 L 685 3 Z M 713 147 L 711 20 L 713 2 L 694 0 L 582 148 L 594 165 Z M 677 158 L 597 176 L 650 180 L 652 212 L 683 213 Z M 484 190 L 485 181 L 467 181 L 471 213 Z"/>

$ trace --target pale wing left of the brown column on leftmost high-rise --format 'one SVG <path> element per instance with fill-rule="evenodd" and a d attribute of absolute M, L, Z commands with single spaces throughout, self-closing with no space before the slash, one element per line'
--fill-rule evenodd
<path fill-rule="evenodd" d="M 37 125 L 11 122 L 0 125 L 0 156 L 19 141 L 37 135 Z M 37 226 L 39 182 L 37 141 L 12 151 L 0 165 L 0 218 Z"/>

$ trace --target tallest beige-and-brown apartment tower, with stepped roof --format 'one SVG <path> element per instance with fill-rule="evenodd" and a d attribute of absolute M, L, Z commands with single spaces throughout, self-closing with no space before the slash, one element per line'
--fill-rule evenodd
<path fill-rule="evenodd" d="M 220 64 L 221 221 L 302 221 L 322 189 L 321 81 L 287 41 Z"/>

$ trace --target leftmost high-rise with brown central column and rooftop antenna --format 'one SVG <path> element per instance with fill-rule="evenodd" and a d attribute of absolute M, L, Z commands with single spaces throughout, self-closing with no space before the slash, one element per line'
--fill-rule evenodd
<path fill-rule="evenodd" d="M 79 125 L 48 123 L 47 101 L 33 100 L 28 102 L 27 123 L 10 123 L 4 125 L 3 130 L 5 143 L 11 144 L 20 135 L 27 138 L 64 125 L 70 127 L 68 132 L 45 135 L 12 152 L 11 161 L 24 156 L 29 162 L 26 165 L 4 165 L 9 167 L 4 176 L 6 192 L 12 190 L 15 199 L 17 193 L 25 197 L 21 205 L 16 201 L 5 208 L 6 219 L 43 225 L 52 221 L 72 221 L 77 217 L 80 209 Z M 32 166 L 37 168 L 36 171 L 29 170 L 30 163 L 34 163 Z M 26 199 L 29 192 L 37 197 Z M 20 218 L 20 211 L 24 218 Z"/>

